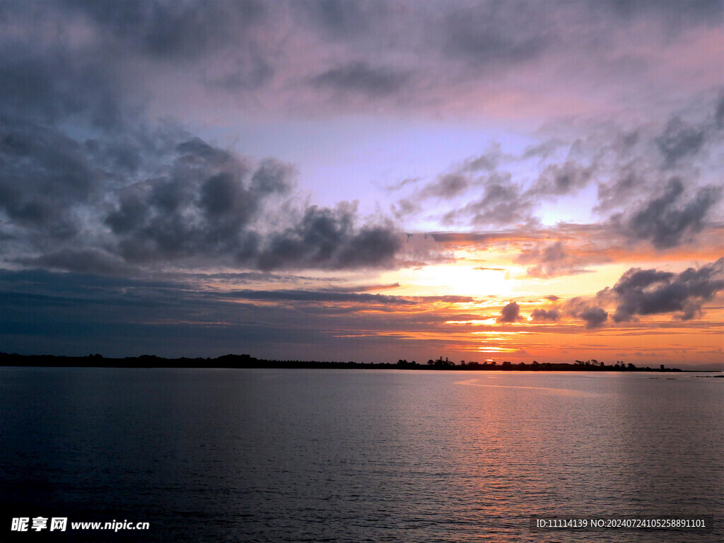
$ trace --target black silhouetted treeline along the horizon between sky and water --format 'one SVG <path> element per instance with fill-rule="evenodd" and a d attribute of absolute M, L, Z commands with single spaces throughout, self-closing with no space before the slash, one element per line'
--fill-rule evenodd
<path fill-rule="evenodd" d="M 88 356 L 17 355 L 0 353 L 0 366 L 94 367 L 94 368 L 339 368 L 339 369 L 416 369 L 431 371 L 682 371 L 677 368 L 637 367 L 632 363 L 616 361 L 605 364 L 597 360 L 577 360 L 574 363 L 510 363 L 508 361 L 455 363 L 442 356 L 426 363 L 398 360 L 397 363 L 321 362 L 311 360 L 263 360 L 251 355 L 224 355 L 218 358 L 161 358 L 140 355 L 127 358 L 104 358 L 99 354 Z"/>

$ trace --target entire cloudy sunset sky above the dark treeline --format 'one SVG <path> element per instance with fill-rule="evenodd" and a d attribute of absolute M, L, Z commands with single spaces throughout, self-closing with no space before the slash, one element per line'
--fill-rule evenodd
<path fill-rule="evenodd" d="M 0 2 L 0 350 L 724 368 L 719 1 Z"/>

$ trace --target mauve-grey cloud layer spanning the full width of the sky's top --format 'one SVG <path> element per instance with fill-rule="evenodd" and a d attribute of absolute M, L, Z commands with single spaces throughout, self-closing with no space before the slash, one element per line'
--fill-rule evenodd
<path fill-rule="evenodd" d="M 182 94 L 196 102 L 187 114 L 199 117 L 230 103 L 325 112 L 346 93 L 361 98 L 344 101 L 352 112 L 395 104 L 460 118 L 542 118 L 656 109 L 680 99 L 678 87 L 716 84 L 704 72 L 720 54 L 707 47 L 722 19 L 716 2 L 654 2 L 626 17 L 601 4 L 109 0 L 40 10 L 8 2 L 4 95 L 46 114 L 121 123 L 148 107 L 178 115 Z"/>

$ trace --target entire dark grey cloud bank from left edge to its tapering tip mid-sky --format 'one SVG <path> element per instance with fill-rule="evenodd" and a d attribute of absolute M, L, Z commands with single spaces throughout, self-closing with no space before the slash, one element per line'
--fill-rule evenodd
<path fill-rule="evenodd" d="M 292 165 L 255 165 L 172 127 L 80 142 L 9 122 L 0 151 L 0 210 L 17 252 L 6 257 L 17 261 L 71 270 L 110 270 L 106 257 L 127 269 L 199 258 L 264 270 L 345 269 L 392 266 L 403 249 L 397 227 L 358 224 L 355 206 L 300 206 Z"/>

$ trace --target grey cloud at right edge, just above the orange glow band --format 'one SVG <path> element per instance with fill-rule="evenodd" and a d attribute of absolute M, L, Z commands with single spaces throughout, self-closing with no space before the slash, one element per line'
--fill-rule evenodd
<path fill-rule="evenodd" d="M 613 224 L 628 237 L 650 240 L 657 249 L 665 249 L 688 241 L 704 229 L 708 212 L 722 197 L 722 188 L 699 188 L 693 196 L 686 194 L 678 178 L 657 197 L 628 216 L 616 214 Z"/>

